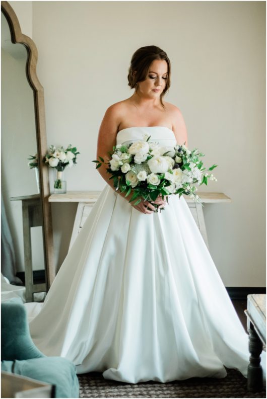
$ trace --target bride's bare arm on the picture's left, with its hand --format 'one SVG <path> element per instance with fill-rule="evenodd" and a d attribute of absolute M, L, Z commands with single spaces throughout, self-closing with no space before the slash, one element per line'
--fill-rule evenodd
<path fill-rule="evenodd" d="M 101 156 L 105 162 L 108 162 L 110 156 L 108 154 L 109 151 L 112 151 L 113 146 L 116 145 L 116 135 L 118 131 L 118 127 L 120 124 L 120 107 L 118 104 L 111 105 L 105 112 L 104 118 L 101 122 L 99 132 L 98 132 L 98 140 L 97 140 L 97 159 Z M 110 174 L 106 172 L 108 169 L 108 165 L 103 164 L 97 171 L 100 173 L 105 182 L 115 191 L 113 179 L 108 180 Z M 117 190 L 117 193 L 125 198 L 125 192 L 121 193 L 120 190 Z M 133 192 L 132 192 L 133 193 Z M 131 194 L 125 198 L 128 201 L 131 197 Z M 130 202 L 130 205 L 133 208 L 136 208 L 140 212 L 143 213 L 153 213 L 155 207 L 148 201 L 141 201 L 138 205 L 133 205 L 136 201 Z M 147 207 L 149 209 L 147 209 Z"/>

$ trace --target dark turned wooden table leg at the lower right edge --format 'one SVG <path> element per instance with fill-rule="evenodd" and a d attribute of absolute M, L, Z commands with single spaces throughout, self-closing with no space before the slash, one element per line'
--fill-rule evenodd
<path fill-rule="evenodd" d="M 260 365 L 262 342 L 255 332 L 253 323 L 249 322 L 249 365 L 247 368 L 247 389 L 252 392 L 261 391 L 263 388 L 263 374 Z"/>

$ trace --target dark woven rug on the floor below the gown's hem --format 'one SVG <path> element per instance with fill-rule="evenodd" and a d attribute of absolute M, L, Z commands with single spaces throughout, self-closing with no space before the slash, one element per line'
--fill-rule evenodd
<path fill-rule="evenodd" d="M 246 378 L 236 370 L 226 369 L 225 378 L 190 378 L 183 381 L 155 381 L 128 384 L 106 380 L 102 373 L 78 375 L 80 397 L 266 397 L 261 392 L 248 392 Z"/>

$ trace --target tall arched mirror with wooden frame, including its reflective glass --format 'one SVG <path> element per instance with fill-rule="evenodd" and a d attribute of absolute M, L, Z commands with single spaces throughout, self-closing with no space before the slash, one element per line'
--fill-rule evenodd
<path fill-rule="evenodd" d="M 32 301 L 55 275 L 48 169 L 42 162 L 44 95 L 34 42 L 21 33 L 8 2 L 1 3 L 1 11 L 2 273 L 16 284 L 21 272 L 26 301 Z"/>

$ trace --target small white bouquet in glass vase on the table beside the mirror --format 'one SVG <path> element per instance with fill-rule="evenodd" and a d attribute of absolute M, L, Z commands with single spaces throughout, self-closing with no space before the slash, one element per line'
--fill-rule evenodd
<path fill-rule="evenodd" d="M 63 181 L 63 171 L 65 168 L 72 168 L 73 165 L 77 164 L 77 155 L 80 152 L 77 151 L 76 147 L 72 147 L 69 144 L 67 148 L 56 148 L 54 145 L 50 145 L 49 151 L 44 156 L 43 161 L 45 164 L 54 169 L 54 192 L 65 193 L 66 182 Z"/>

